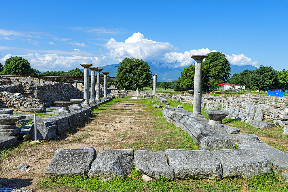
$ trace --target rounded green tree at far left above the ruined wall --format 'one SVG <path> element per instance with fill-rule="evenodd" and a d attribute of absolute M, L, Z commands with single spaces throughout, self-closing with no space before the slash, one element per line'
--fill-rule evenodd
<path fill-rule="evenodd" d="M 35 70 L 31 68 L 28 60 L 16 56 L 6 59 L 1 74 L 34 75 Z"/>

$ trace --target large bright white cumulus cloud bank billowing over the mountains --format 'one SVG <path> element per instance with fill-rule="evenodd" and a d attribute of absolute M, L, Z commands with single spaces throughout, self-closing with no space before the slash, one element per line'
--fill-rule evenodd
<path fill-rule="evenodd" d="M 155 66 L 162 68 L 177 68 L 188 66 L 195 61 L 190 58 L 191 55 L 206 55 L 210 52 L 217 52 L 208 48 L 194 49 L 185 51 L 184 53 L 175 52 L 177 47 L 168 42 L 157 42 L 145 39 L 142 33 L 134 33 L 128 37 L 124 42 L 118 42 L 113 38 L 106 44 L 102 44 L 109 50 L 109 58 L 114 62 L 120 62 L 125 57 L 135 57 L 152 62 Z M 251 58 L 243 54 L 226 55 L 230 64 L 234 65 L 253 65 L 257 67 L 257 61 L 252 62 Z M 163 63 L 163 64 L 160 64 Z"/>

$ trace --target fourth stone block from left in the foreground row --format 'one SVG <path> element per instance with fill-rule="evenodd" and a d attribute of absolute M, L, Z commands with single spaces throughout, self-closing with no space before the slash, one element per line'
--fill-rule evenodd
<path fill-rule="evenodd" d="M 166 149 L 165 154 L 175 178 L 208 179 L 222 176 L 221 164 L 210 151 Z"/>

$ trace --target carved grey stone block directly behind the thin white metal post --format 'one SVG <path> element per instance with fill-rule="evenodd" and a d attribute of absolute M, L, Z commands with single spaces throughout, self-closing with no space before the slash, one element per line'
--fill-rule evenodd
<path fill-rule="evenodd" d="M 35 134 L 34 134 L 34 125 L 32 124 L 31 129 L 30 129 L 30 138 L 35 139 Z M 37 123 L 37 139 L 43 140 L 43 139 L 50 139 L 52 137 L 56 136 L 56 128 L 57 125 L 53 123 L 53 121 L 48 121 L 45 123 Z"/>

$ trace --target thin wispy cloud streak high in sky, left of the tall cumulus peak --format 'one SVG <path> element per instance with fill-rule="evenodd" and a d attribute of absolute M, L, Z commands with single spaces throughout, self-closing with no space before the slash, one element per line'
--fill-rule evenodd
<path fill-rule="evenodd" d="M 125 33 L 124 29 L 105 29 L 101 27 L 68 27 L 73 31 L 84 31 L 85 33 L 92 33 L 92 34 L 108 34 L 108 35 L 115 35 L 115 34 L 122 34 Z"/>

